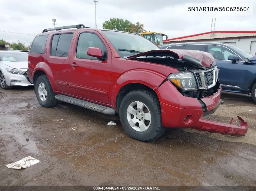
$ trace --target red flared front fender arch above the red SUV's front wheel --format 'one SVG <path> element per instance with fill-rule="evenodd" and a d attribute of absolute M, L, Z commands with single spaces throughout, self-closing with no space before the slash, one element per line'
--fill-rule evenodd
<path fill-rule="evenodd" d="M 111 105 L 116 108 L 116 98 L 123 86 L 131 83 L 139 83 L 148 86 L 152 90 L 156 91 L 158 86 L 166 79 L 167 77 L 159 74 L 158 72 L 146 69 L 136 69 L 125 72 L 122 74 L 113 84 L 111 91 Z"/>

